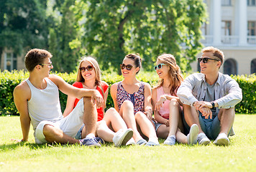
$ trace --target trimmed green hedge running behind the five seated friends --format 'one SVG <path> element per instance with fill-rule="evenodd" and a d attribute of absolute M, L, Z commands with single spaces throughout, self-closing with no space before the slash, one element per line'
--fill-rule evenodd
<path fill-rule="evenodd" d="M 55 73 L 63 79 L 73 84 L 76 80 L 76 73 L 71 72 L 68 73 Z M 29 77 L 28 72 L 21 71 L 4 71 L 0 72 L 0 115 L 19 115 L 17 108 L 14 105 L 13 100 L 13 90 L 22 80 L 25 80 Z M 232 76 L 234 80 L 236 80 L 239 86 L 242 88 L 243 99 L 242 102 L 239 102 L 236 105 L 235 110 L 236 113 L 247 113 L 253 114 L 256 113 L 256 76 L 255 75 L 241 75 L 241 76 Z M 117 75 L 115 72 L 103 72 L 102 73 L 102 80 L 107 82 L 109 86 L 114 84 L 115 82 L 119 82 L 122 80 L 122 76 Z M 137 75 L 137 79 L 148 82 L 150 85 L 154 86 L 157 84 L 158 77 L 155 72 L 140 72 Z M 62 111 L 65 110 L 65 104 L 67 100 L 67 95 L 60 92 L 60 105 Z M 114 103 L 111 99 L 109 94 L 107 101 L 106 101 L 106 109 L 114 107 Z"/>

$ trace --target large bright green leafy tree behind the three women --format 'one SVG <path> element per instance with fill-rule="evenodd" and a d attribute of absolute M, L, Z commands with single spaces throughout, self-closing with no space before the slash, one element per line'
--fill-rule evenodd
<path fill-rule="evenodd" d="M 109 65 L 118 69 L 124 55 L 132 52 L 142 55 L 147 70 L 163 53 L 173 54 L 183 70 L 190 70 L 201 49 L 200 28 L 206 20 L 202 0 L 78 2 L 84 4 L 76 14 L 83 21 L 81 44 L 104 70 Z"/>

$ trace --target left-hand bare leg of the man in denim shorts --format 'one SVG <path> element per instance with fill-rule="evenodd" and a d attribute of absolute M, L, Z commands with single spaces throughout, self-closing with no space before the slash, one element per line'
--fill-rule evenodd
<path fill-rule="evenodd" d="M 191 125 L 196 124 L 199 128 L 199 133 L 204 133 L 201 129 L 201 125 L 199 123 L 198 113 L 196 111 L 196 108 L 191 107 L 190 105 L 183 104 L 183 111 L 186 123 L 188 123 L 188 126 L 191 127 Z"/>

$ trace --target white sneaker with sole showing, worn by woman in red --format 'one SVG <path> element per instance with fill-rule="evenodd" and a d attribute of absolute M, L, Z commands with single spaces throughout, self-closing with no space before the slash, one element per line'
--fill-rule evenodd
<path fill-rule="evenodd" d="M 114 146 L 126 145 L 127 141 L 132 138 L 132 135 L 133 131 L 131 128 L 128 128 L 124 132 L 122 130 L 117 131 L 113 138 Z"/>

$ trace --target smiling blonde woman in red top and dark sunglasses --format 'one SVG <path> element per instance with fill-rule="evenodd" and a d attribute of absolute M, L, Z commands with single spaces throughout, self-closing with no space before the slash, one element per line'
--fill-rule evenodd
<path fill-rule="evenodd" d="M 98 90 L 104 98 L 104 105 L 106 105 L 109 85 L 101 81 L 101 70 L 96 59 L 83 57 L 78 67 L 76 82 L 73 86 L 81 89 Z M 63 113 L 64 117 L 76 107 L 78 101 L 76 97 L 68 96 L 67 105 Z M 127 125 L 124 123 L 119 113 L 117 113 L 114 108 L 110 108 L 104 114 L 104 107 L 98 108 L 97 113 L 98 122 L 96 135 L 100 137 L 99 141 L 101 143 L 104 143 L 103 140 L 113 142 L 115 146 L 126 145 L 127 141 L 132 138 L 133 131 L 130 128 L 127 129 Z M 86 128 L 83 126 L 81 130 L 78 131 L 76 138 L 84 138 L 85 133 Z"/>

